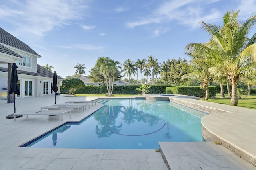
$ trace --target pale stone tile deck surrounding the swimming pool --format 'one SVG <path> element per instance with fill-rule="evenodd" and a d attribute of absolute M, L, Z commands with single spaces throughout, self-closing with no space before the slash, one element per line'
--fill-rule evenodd
<path fill-rule="evenodd" d="M 117 98 L 117 97 L 115 97 Z M 70 100 L 93 100 L 94 97 L 56 96 L 57 103 Z M 194 99 L 179 98 L 185 102 L 218 108 L 230 113 L 214 113 L 202 119 L 207 132 L 218 135 L 226 143 L 234 143 L 256 156 L 255 110 L 232 107 Z M 39 110 L 40 107 L 54 104 L 54 95 L 43 97 L 17 98 L 16 112 Z M 0 100 L 0 169 L 2 170 L 256 170 L 245 160 L 222 145 L 212 142 L 198 143 L 160 143 L 166 166 L 160 152 L 155 150 L 110 150 L 110 149 L 51 149 L 18 147 L 40 136 L 66 121 L 80 121 L 101 107 L 96 104 L 77 113 L 72 110 L 71 118 L 59 116 L 34 115 L 6 119 L 13 113 L 14 104 Z M 230 114 L 233 115 L 230 115 Z M 216 138 L 217 138 L 216 137 Z M 217 139 L 216 139 L 217 140 Z M 233 145 L 232 145 L 233 146 Z"/>

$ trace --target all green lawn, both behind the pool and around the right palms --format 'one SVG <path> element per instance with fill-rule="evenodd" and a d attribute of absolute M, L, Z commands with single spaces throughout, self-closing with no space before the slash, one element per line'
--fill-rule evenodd
<path fill-rule="evenodd" d="M 134 96 L 138 94 L 115 94 L 116 97 L 129 97 Z M 75 94 L 72 95 L 74 97 L 77 96 L 104 96 L 104 94 Z M 225 94 L 225 96 L 228 96 Z M 204 100 L 204 98 L 200 98 L 200 100 Z M 231 98 L 220 98 L 220 94 L 216 95 L 216 98 L 209 98 L 208 100 L 204 100 L 207 102 L 214 102 L 214 103 L 220 103 L 220 104 L 226 104 L 229 105 Z M 245 107 L 249 109 L 256 109 L 256 94 L 252 94 L 250 96 L 242 96 L 241 99 L 238 99 L 238 107 Z"/>

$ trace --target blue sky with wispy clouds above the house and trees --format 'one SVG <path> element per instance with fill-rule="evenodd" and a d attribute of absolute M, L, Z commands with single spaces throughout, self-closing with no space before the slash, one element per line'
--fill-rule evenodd
<path fill-rule="evenodd" d="M 89 75 L 103 56 L 188 60 L 186 45 L 209 40 L 200 21 L 222 25 L 228 10 L 240 10 L 244 21 L 255 7 L 256 0 L 0 0 L 0 27 L 66 78 L 78 63 Z"/>

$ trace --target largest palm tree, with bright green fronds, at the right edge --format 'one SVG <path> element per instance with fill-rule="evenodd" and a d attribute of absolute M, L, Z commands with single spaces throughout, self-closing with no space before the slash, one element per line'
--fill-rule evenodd
<path fill-rule="evenodd" d="M 228 11 L 223 17 L 223 26 L 207 25 L 202 21 L 202 28 L 211 36 L 211 46 L 201 43 L 187 45 L 186 49 L 208 53 L 208 60 L 214 63 L 210 69 L 214 74 L 226 74 L 232 84 L 230 105 L 237 106 L 237 82 L 242 76 L 249 76 L 256 63 L 256 33 L 251 39 L 247 37 L 256 23 L 256 14 L 248 17 L 245 22 L 237 21 L 238 11 Z"/>

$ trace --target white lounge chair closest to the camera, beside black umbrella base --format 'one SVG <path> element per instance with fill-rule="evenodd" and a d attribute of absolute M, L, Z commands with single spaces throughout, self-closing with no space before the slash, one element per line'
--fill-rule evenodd
<path fill-rule="evenodd" d="M 71 117 L 71 110 L 27 110 L 19 113 L 13 113 L 13 120 L 16 120 L 16 115 L 61 115 L 61 121 L 63 121 L 63 114 L 69 113 Z"/>

